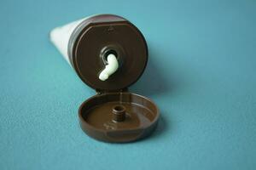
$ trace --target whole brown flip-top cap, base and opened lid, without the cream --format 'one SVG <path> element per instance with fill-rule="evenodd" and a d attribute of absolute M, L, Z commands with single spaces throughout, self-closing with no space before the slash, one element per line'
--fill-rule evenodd
<path fill-rule="evenodd" d="M 159 111 L 150 99 L 126 91 L 148 62 L 147 43 L 137 27 L 113 14 L 92 16 L 73 31 L 68 49 L 81 80 L 100 92 L 80 106 L 84 132 L 107 142 L 147 136 L 157 124 Z M 108 64 L 108 54 L 116 56 L 119 68 L 102 81 L 99 73 Z"/>

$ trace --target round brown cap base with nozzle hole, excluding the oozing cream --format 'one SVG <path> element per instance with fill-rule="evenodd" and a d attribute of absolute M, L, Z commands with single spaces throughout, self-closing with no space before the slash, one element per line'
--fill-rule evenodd
<path fill-rule="evenodd" d="M 143 74 L 148 48 L 143 34 L 122 17 L 112 14 L 92 16 L 79 24 L 69 41 L 69 58 L 79 77 L 96 90 L 115 91 L 129 87 Z M 99 79 L 114 54 L 119 68 L 108 80 Z"/>

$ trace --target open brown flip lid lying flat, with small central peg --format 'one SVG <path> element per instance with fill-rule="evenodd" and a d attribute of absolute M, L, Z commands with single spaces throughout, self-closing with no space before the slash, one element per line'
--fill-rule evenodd
<path fill-rule="evenodd" d="M 143 139 L 159 120 L 157 106 L 148 98 L 130 93 L 104 93 L 84 101 L 80 126 L 90 137 L 105 142 Z"/>

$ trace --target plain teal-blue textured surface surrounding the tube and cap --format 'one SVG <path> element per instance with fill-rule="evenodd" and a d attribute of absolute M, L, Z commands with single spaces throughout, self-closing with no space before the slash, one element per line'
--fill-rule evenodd
<path fill-rule="evenodd" d="M 160 108 L 154 134 L 131 144 L 90 139 L 79 105 L 94 90 L 49 42 L 90 14 L 119 14 L 148 42 L 130 90 Z M 0 2 L 0 169 L 255 169 L 256 3 Z"/>

